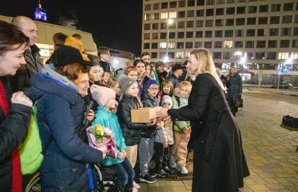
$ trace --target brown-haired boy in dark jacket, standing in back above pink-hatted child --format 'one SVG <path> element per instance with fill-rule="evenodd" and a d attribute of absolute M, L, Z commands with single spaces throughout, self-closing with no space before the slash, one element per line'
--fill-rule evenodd
<path fill-rule="evenodd" d="M 103 71 L 111 71 L 113 73 L 113 76 L 117 78 L 115 69 L 109 63 L 111 59 L 110 49 L 104 46 L 99 47 L 97 55 L 100 58 L 100 66 L 103 68 Z"/>

